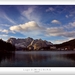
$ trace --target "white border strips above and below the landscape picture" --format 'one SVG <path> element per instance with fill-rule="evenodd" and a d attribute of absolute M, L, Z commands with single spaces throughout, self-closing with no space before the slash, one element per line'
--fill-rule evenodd
<path fill-rule="evenodd" d="M 0 0 L 0 5 L 75 5 L 75 0 Z M 0 67 L 0 74 L 75 75 L 75 67 Z"/>

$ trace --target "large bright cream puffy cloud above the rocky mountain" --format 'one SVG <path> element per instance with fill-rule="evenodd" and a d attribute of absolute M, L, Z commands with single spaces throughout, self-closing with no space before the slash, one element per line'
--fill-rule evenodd
<path fill-rule="evenodd" d="M 11 26 L 9 29 L 11 31 L 16 31 L 16 32 L 20 32 L 20 31 L 31 32 L 31 31 L 43 30 L 43 27 L 39 26 L 35 21 L 30 21 L 25 24 Z"/>

